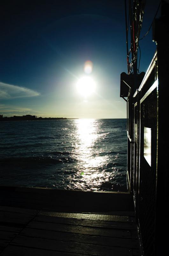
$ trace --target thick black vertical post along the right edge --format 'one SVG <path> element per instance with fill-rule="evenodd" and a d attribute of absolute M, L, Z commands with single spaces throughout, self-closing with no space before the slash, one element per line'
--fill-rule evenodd
<path fill-rule="evenodd" d="M 169 4 L 162 1 L 161 18 L 155 22 L 154 41 L 158 60 L 158 129 L 156 182 L 156 254 L 167 255 L 168 237 L 168 70 L 169 70 Z M 161 234 L 165 234 L 161 236 Z M 169 253 L 169 252 L 168 252 Z"/>

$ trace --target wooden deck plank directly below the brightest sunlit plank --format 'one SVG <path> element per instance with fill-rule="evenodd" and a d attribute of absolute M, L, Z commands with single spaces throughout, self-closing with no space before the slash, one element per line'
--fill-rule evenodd
<path fill-rule="evenodd" d="M 86 226 L 86 227 L 137 230 L 137 224 L 130 223 L 130 222 L 71 219 L 71 218 L 51 217 L 51 216 L 45 216 L 45 215 L 36 216 L 33 220 L 41 221 L 41 222 L 60 223 L 60 224 L 62 223 L 62 224 L 69 224 L 69 225 L 80 225 L 80 226 Z"/>

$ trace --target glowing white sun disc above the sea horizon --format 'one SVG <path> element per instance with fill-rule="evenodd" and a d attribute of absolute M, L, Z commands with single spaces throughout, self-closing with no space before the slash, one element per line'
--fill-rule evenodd
<path fill-rule="evenodd" d="M 96 84 L 92 77 L 84 76 L 78 80 L 76 87 L 82 96 L 87 97 L 95 92 Z"/>

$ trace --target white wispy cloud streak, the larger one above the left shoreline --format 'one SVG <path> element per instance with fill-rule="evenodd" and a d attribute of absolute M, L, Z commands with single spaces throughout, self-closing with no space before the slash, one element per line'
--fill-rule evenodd
<path fill-rule="evenodd" d="M 40 93 L 13 84 L 0 82 L 0 99 L 15 99 L 39 96 Z"/>

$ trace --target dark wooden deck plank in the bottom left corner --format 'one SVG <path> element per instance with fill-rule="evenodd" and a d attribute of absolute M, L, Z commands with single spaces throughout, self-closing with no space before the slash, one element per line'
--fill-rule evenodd
<path fill-rule="evenodd" d="M 28 247 L 8 245 L 1 253 L 1 256 L 84 256 L 80 253 L 56 252 Z M 89 254 L 85 254 L 88 256 Z"/>

